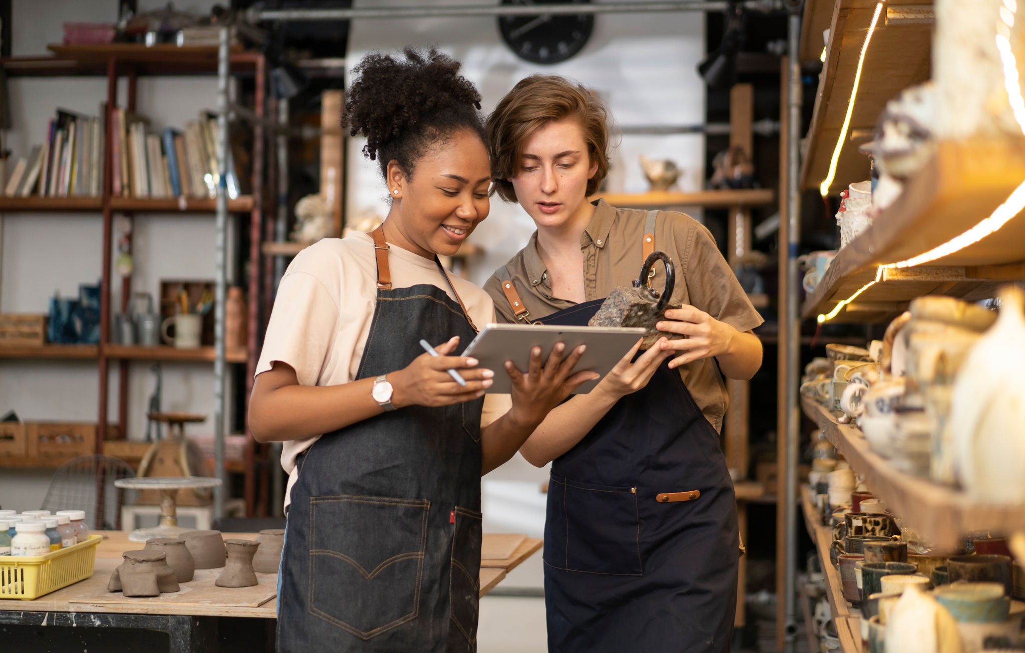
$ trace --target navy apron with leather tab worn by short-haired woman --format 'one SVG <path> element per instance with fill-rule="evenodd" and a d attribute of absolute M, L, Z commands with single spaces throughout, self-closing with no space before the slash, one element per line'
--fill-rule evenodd
<path fill-rule="evenodd" d="M 646 238 L 654 212 L 649 220 Z M 508 273 L 499 276 L 505 289 Z M 542 321 L 586 325 L 603 301 Z M 669 360 L 552 461 L 544 523 L 552 653 L 730 650 L 740 541 L 733 482 L 719 433 Z"/>

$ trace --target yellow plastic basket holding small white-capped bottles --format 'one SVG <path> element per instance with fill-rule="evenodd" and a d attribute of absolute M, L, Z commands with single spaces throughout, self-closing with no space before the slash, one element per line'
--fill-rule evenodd
<path fill-rule="evenodd" d="M 0 556 L 0 599 L 31 601 L 92 575 L 101 535 L 45 556 Z"/>

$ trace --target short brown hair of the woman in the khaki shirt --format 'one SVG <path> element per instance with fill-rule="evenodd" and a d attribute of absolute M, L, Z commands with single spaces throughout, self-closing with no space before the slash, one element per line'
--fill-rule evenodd
<path fill-rule="evenodd" d="M 598 171 L 587 180 L 587 197 L 593 195 L 609 173 L 609 111 L 593 92 L 558 75 L 531 75 L 520 80 L 488 117 L 492 192 L 506 202 L 516 202 L 509 179 L 520 174 L 524 144 L 548 122 L 566 118 L 580 122 L 588 164 L 598 163 Z"/>

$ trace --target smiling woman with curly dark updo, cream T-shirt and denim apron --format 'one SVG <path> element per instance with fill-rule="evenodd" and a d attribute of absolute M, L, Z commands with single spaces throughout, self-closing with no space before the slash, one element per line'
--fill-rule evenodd
<path fill-rule="evenodd" d="M 499 371 L 514 387 L 499 414 L 494 373 L 452 355 L 494 320 L 438 260 L 489 208 L 481 96 L 458 71 L 412 49 L 356 67 L 342 122 L 367 137 L 391 210 L 303 250 L 278 288 L 249 423 L 285 443 L 281 651 L 476 650 L 481 475 L 594 376 L 570 376 L 582 348 L 543 366 L 534 351 L 526 373 Z"/>

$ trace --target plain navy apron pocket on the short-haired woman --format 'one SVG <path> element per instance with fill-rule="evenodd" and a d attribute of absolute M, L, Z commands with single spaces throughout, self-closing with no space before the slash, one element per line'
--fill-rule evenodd
<path fill-rule="evenodd" d="M 555 546 L 546 559 L 549 565 L 592 574 L 644 574 L 636 488 L 580 483 L 552 475 L 549 495 L 552 492 L 557 495 L 549 496 L 548 517 L 565 527 L 565 535 L 556 538 L 565 545 L 565 566 L 559 564 L 562 552 Z M 562 516 L 558 515 L 560 507 Z M 548 534 L 546 530 L 545 537 Z"/>

